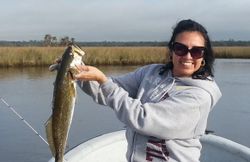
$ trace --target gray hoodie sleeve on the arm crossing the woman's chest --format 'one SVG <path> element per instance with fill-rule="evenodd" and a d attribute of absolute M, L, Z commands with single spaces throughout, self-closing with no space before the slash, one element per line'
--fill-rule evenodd
<path fill-rule="evenodd" d="M 191 87 L 158 103 L 142 104 L 111 80 L 101 86 L 106 103 L 117 117 L 136 132 L 162 139 L 185 139 L 196 136 L 201 108 L 209 112 L 210 94 Z M 206 120 L 206 119 L 204 119 Z"/>

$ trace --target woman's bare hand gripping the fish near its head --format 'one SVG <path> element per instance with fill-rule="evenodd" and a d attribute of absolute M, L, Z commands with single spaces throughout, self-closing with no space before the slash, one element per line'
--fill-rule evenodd
<path fill-rule="evenodd" d="M 77 69 L 80 72 L 75 75 L 75 79 L 97 81 L 99 84 L 103 84 L 108 80 L 106 75 L 94 66 L 78 65 Z"/>

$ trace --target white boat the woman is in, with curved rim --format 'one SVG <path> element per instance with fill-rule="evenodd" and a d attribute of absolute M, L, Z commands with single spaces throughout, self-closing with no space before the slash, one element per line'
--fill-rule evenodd
<path fill-rule="evenodd" d="M 201 138 L 201 162 L 250 162 L 250 148 L 228 139 L 208 134 Z M 67 162 L 126 162 L 125 131 L 104 134 L 72 148 Z M 53 162 L 54 158 L 49 162 Z"/>

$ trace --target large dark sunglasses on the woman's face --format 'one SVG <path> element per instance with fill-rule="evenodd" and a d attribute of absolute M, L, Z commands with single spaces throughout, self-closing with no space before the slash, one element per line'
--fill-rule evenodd
<path fill-rule="evenodd" d="M 172 45 L 172 50 L 177 56 L 185 56 L 189 52 L 194 59 L 202 58 L 205 49 L 206 49 L 205 47 L 198 47 L 198 46 L 194 46 L 191 49 L 188 49 L 186 45 L 179 42 L 174 42 Z"/>

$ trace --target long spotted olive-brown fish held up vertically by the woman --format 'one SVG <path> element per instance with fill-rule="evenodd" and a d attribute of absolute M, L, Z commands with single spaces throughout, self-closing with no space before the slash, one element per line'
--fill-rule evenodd
<path fill-rule="evenodd" d="M 68 134 L 76 101 L 76 81 L 79 73 L 77 65 L 83 64 L 85 52 L 75 44 L 70 44 L 60 62 L 49 67 L 57 70 L 52 99 L 52 114 L 45 123 L 47 141 L 55 162 L 63 162 Z"/>

